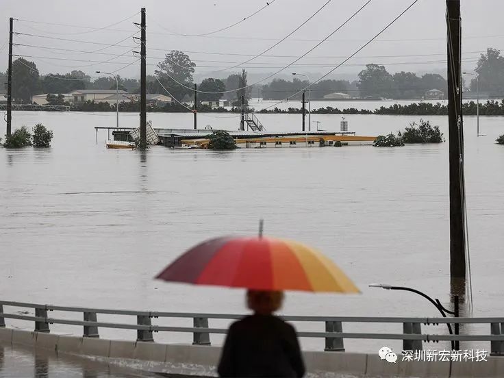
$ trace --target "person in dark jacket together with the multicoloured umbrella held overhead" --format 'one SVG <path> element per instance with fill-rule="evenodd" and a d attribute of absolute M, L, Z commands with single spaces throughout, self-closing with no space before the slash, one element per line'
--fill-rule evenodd
<path fill-rule="evenodd" d="M 233 323 L 218 373 L 222 377 L 302 377 L 305 366 L 294 327 L 273 313 L 283 290 L 360 293 L 322 253 L 299 242 L 223 237 L 193 247 L 155 278 L 197 285 L 247 288 L 254 314 Z"/>

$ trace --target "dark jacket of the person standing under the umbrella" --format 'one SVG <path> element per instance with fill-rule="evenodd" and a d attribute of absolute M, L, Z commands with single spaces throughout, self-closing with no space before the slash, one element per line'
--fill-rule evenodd
<path fill-rule="evenodd" d="M 220 377 L 303 377 L 296 331 L 277 316 L 252 315 L 229 327 Z"/>

